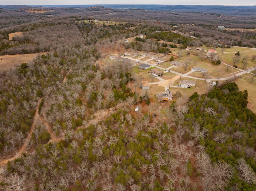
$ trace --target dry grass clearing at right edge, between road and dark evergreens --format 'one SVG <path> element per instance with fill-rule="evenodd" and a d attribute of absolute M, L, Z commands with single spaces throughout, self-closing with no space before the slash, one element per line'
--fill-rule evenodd
<path fill-rule="evenodd" d="M 248 91 L 247 107 L 256 114 L 256 80 L 252 83 L 251 81 L 251 75 L 247 74 L 236 79 L 235 83 L 238 85 L 240 91 Z"/>

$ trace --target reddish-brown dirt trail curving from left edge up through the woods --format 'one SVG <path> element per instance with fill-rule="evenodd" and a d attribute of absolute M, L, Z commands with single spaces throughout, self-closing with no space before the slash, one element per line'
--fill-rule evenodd
<path fill-rule="evenodd" d="M 13 161 L 13 160 L 16 159 L 16 158 L 19 158 L 19 157 L 21 156 L 21 154 L 25 151 L 25 149 L 26 149 L 26 147 L 28 146 L 28 143 L 29 143 L 29 141 L 30 141 L 30 138 L 31 138 L 31 136 L 32 136 L 32 133 L 33 133 L 33 131 L 34 131 L 34 128 L 35 128 L 35 125 L 36 125 L 36 120 L 38 119 L 38 116 L 39 116 L 39 115 L 38 115 L 38 109 L 39 109 L 39 105 L 40 105 L 42 99 L 43 99 L 43 98 L 41 98 L 41 99 L 39 100 L 38 106 L 37 106 L 37 108 L 36 108 L 36 113 L 35 113 L 35 115 L 34 115 L 34 121 L 33 121 L 33 124 L 32 124 L 32 126 L 31 126 L 31 128 L 30 128 L 30 132 L 29 132 L 29 134 L 28 134 L 28 137 L 27 137 L 27 139 L 26 139 L 26 142 L 24 143 L 24 145 L 22 146 L 22 148 L 20 149 L 20 151 L 18 152 L 18 154 L 16 154 L 16 156 L 14 156 L 14 157 L 12 157 L 12 158 L 9 158 L 9 159 L 5 159 L 5 160 L 3 160 L 3 161 L 0 161 L 0 164 L 6 164 L 8 161 Z"/>

